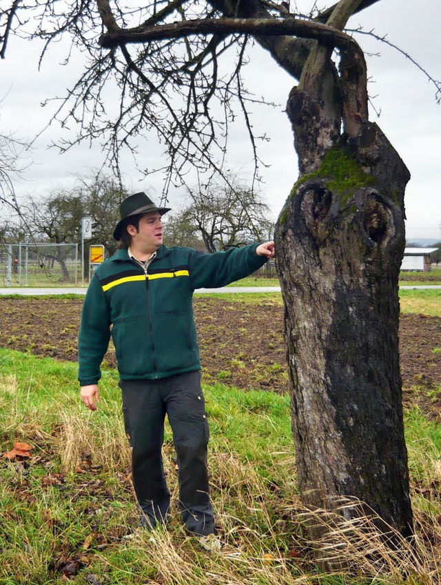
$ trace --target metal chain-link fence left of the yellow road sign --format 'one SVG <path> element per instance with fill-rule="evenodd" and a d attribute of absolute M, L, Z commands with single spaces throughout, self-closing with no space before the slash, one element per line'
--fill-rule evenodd
<path fill-rule="evenodd" d="M 0 286 L 77 286 L 78 244 L 0 244 Z"/>

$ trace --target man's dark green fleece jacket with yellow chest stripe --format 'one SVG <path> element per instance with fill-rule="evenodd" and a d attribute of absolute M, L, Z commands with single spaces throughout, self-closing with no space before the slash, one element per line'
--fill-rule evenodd
<path fill-rule="evenodd" d="M 110 336 L 121 379 L 155 379 L 201 368 L 192 297 L 244 278 L 266 257 L 258 244 L 205 254 L 161 246 L 147 269 L 119 250 L 96 269 L 79 332 L 79 381 L 96 384 Z"/>

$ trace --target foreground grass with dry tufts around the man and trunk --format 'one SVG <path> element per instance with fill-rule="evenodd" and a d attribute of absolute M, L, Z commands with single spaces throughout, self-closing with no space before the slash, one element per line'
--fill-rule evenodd
<path fill-rule="evenodd" d="M 227 546 L 203 553 L 174 510 L 153 533 L 138 520 L 116 373 L 105 370 L 96 413 L 79 401 L 76 366 L 0 350 L 1 452 L 31 448 L 0 466 L 0 584 L 438 585 L 441 428 L 406 415 L 415 548 L 378 543 L 367 526 L 342 526 L 338 547 L 357 576 L 320 573 L 305 539 L 296 486 L 289 397 L 205 387 L 209 468 Z M 170 428 L 165 465 L 177 497 Z M 317 518 L 320 522 L 320 517 Z M 345 534 L 351 530 L 356 544 Z M 372 551 L 376 548 L 376 555 Z M 266 556 L 265 556 L 266 555 Z M 374 560 L 375 557 L 375 560 Z"/>

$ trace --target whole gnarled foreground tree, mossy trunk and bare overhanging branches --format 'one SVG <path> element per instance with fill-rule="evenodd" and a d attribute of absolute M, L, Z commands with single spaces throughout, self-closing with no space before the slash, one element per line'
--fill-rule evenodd
<path fill-rule="evenodd" d="M 258 168 L 252 98 L 241 77 L 253 42 L 296 80 L 287 114 L 300 177 L 280 213 L 276 245 L 302 500 L 332 509 L 338 497 L 357 497 L 382 518 L 382 531 L 393 526 L 407 536 L 398 272 L 409 172 L 369 121 L 365 57 L 343 32 L 376 1 L 340 0 L 313 14 L 311 0 L 311 14 L 300 15 L 268 0 L 156 0 L 124 10 L 107 0 L 69 8 L 23 0 L 2 14 L 1 55 L 30 16 L 31 38 L 50 43 L 70 34 L 89 62 L 57 117 L 79 121 L 80 140 L 102 139 L 115 166 L 121 146 L 156 131 L 168 156 L 165 193 L 189 166 L 223 172 L 234 100 Z M 106 83 L 120 91 L 113 113 Z"/>

